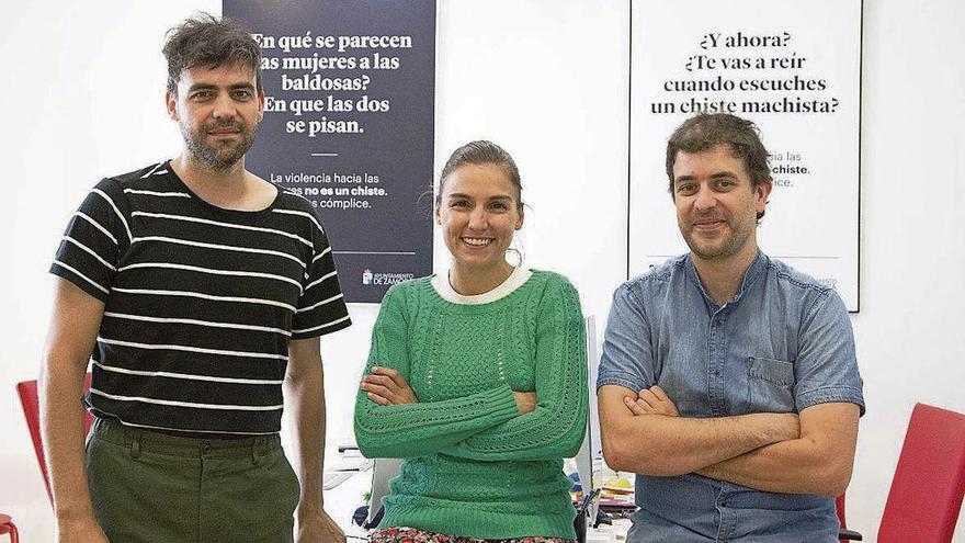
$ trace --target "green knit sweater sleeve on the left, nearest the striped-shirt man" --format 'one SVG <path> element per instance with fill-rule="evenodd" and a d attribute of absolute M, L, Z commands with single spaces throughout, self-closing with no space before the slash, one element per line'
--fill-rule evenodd
<path fill-rule="evenodd" d="M 372 366 L 393 367 L 410 381 L 406 285 L 389 289 L 372 330 Z M 363 455 L 415 457 L 433 454 L 467 437 L 519 416 L 508 385 L 441 401 L 381 406 L 359 391 L 355 400 L 355 442 Z"/>

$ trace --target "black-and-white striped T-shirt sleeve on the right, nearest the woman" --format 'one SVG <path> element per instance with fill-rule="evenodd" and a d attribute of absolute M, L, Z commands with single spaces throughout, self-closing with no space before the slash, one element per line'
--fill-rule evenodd
<path fill-rule="evenodd" d="M 336 261 L 317 213 L 311 236 L 313 256 L 306 267 L 305 290 L 292 323 L 292 339 L 325 336 L 352 324 L 339 285 Z"/>

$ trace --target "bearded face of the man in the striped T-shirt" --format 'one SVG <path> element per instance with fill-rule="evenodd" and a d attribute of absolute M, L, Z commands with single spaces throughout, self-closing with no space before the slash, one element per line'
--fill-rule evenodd
<path fill-rule="evenodd" d="M 254 73 L 245 66 L 196 66 L 181 72 L 167 104 L 191 157 L 220 171 L 241 160 L 254 143 L 264 94 L 257 92 Z"/>

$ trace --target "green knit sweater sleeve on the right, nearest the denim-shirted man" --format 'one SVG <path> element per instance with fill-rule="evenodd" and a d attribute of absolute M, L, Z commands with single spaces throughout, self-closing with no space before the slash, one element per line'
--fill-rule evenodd
<path fill-rule="evenodd" d="M 586 329 L 576 289 L 553 278 L 536 319 L 536 408 L 477 432 L 446 454 L 483 461 L 576 455 L 587 429 Z"/>

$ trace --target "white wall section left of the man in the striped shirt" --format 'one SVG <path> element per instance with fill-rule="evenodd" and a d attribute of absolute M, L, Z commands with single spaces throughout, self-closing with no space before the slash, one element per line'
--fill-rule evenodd
<path fill-rule="evenodd" d="M 0 511 L 23 541 L 53 541 L 53 518 L 14 383 L 35 378 L 53 281 L 46 269 L 67 219 L 101 177 L 179 148 L 164 115 L 164 27 L 191 9 L 155 2 L 0 4 Z"/>

